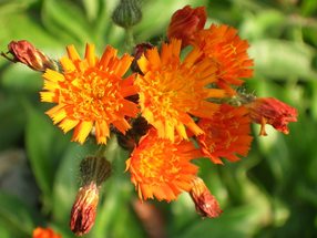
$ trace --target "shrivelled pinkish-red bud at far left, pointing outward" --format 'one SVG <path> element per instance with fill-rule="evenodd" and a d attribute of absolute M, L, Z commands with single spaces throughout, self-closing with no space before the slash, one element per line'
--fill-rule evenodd
<path fill-rule="evenodd" d="M 60 70 L 57 61 L 48 58 L 43 52 L 35 49 L 25 40 L 11 41 L 8 44 L 8 50 L 7 53 L 2 52 L 1 55 L 13 63 L 20 62 L 34 71 L 41 72 L 44 72 L 47 69 Z"/>

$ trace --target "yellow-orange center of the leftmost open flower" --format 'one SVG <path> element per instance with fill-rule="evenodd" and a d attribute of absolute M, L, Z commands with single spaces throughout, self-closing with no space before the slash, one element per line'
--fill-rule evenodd
<path fill-rule="evenodd" d="M 123 105 L 120 102 L 119 85 L 113 84 L 111 75 L 98 69 L 88 70 L 83 74 L 65 74 L 67 85 L 61 90 L 67 104 L 72 104 L 75 120 L 109 121 L 113 111 Z"/>

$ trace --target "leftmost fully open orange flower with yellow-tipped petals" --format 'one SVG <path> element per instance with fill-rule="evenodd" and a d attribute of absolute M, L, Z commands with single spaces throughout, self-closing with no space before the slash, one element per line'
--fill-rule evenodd
<path fill-rule="evenodd" d="M 83 144 L 94 127 L 98 143 L 105 144 L 111 124 L 125 133 L 131 127 L 125 116 L 137 113 L 136 104 L 125 99 L 136 94 L 134 76 L 122 79 L 132 56 L 119 59 L 116 50 L 106 46 L 99 60 L 94 45 L 88 44 L 85 59 L 81 60 L 73 45 L 67 50 L 68 56 L 60 60 L 63 72 L 47 70 L 43 74 L 41 101 L 58 104 L 47 114 L 64 133 L 74 128 L 73 141 Z"/>

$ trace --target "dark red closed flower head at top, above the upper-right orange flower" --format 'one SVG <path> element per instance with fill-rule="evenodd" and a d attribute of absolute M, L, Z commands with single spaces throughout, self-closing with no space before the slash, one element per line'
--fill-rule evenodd
<path fill-rule="evenodd" d="M 205 27 L 207 20 L 206 8 L 191 8 L 185 6 L 175 11 L 167 28 L 168 40 L 176 38 L 182 40 L 182 48 L 188 45 L 194 33 Z"/>

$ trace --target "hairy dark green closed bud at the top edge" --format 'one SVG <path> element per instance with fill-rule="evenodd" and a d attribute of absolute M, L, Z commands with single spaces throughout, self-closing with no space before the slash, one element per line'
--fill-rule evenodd
<path fill-rule="evenodd" d="M 142 19 L 137 0 L 121 0 L 112 13 L 112 20 L 122 28 L 131 28 Z"/>

